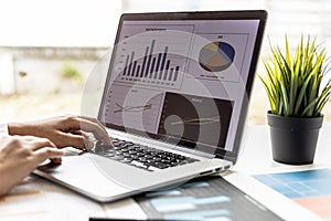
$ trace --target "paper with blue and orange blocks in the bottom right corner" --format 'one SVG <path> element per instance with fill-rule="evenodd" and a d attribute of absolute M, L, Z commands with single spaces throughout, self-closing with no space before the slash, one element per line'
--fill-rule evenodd
<path fill-rule="evenodd" d="M 321 218 L 331 219 L 331 170 L 317 169 L 254 176 Z"/>

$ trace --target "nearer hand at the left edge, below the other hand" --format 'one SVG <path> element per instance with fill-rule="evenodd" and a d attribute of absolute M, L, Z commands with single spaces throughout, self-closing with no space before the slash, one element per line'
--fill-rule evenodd
<path fill-rule="evenodd" d="M 63 150 L 45 138 L 33 136 L 0 137 L 0 196 L 30 175 L 41 162 L 61 162 Z"/>

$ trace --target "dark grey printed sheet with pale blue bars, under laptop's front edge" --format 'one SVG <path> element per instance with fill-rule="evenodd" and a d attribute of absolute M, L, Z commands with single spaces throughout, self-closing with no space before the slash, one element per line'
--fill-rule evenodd
<path fill-rule="evenodd" d="M 148 192 L 135 200 L 150 220 L 281 220 L 220 176 Z"/>

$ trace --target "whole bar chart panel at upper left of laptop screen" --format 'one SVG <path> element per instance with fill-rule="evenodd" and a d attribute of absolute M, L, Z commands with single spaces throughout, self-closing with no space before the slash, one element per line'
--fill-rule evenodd
<path fill-rule="evenodd" d="M 116 54 L 116 82 L 180 88 L 186 69 L 190 39 L 188 41 L 186 32 L 173 34 L 173 27 L 167 28 L 124 36 Z"/>

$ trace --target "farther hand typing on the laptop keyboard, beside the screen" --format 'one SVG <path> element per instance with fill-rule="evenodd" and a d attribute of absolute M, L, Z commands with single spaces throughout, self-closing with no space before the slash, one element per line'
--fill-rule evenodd
<path fill-rule="evenodd" d="M 96 139 L 111 146 L 111 139 L 106 129 L 97 119 L 90 117 L 67 115 L 36 122 L 9 124 L 10 135 L 44 137 L 58 148 L 68 146 L 81 149 L 92 148 L 93 143 L 86 133 L 93 133 Z"/>

